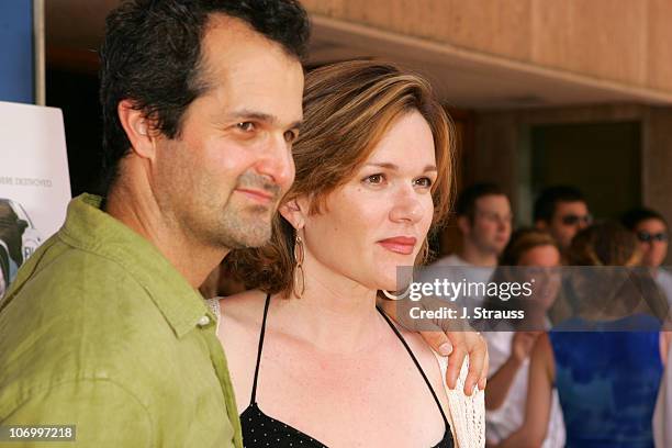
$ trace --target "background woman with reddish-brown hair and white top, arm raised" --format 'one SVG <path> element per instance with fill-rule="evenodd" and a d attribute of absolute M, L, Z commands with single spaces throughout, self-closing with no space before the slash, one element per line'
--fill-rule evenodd
<path fill-rule="evenodd" d="M 491 377 L 485 389 L 485 429 L 488 441 L 495 445 L 513 434 L 525 418 L 529 355 L 540 331 L 548 329 L 547 311 L 560 289 L 560 248 L 550 234 L 525 228 L 515 232 L 504 248 L 492 281 L 524 282 L 534 279 L 530 299 L 488 298 L 486 307 L 526 311 L 525 320 L 508 321 L 506 331 L 483 333 L 488 340 Z M 524 302 L 533 302 L 524 303 Z M 544 448 L 564 446 L 564 423 L 553 391 L 549 426 Z"/>

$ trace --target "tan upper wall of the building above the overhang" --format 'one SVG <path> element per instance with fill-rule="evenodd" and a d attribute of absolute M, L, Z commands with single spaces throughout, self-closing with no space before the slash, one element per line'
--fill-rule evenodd
<path fill-rule="evenodd" d="M 302 0 L 320 15 L 672 92 L 669 0 Z"/>

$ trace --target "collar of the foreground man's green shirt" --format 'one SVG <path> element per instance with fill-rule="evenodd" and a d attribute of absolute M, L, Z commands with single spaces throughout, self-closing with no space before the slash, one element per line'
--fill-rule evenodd
<path fill-rule="evenodd" d="M 133 273 L 152 296 L 177 337 L 192 331 L 204 315 L 214 323 L 201 294 L 150 242 L 103 212 L 102 198 L 81 194 L 68 204 L 58 232 L 64 243 L 107 257 Z"/>

